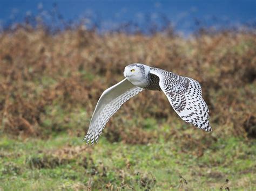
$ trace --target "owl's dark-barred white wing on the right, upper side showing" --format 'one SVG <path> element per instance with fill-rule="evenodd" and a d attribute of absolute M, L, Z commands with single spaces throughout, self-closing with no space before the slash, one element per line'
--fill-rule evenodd
<path fill-rule="evenodd" d="M 159 68 L 151 68 L 150 73 L 159 77 L 161 90 L 181 119 L 199 129 L 212 131 L 209 110 L 198 81 Z"/>

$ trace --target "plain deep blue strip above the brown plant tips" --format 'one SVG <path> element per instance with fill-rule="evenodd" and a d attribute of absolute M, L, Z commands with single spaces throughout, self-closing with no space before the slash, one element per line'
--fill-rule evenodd
<path fill-rule="evenodd" d="M 193 30 L 195 18 L 205 25 L 217 26 L 256 22 L 256 1 L 252 0 L 1 0 L 0 24 L 20 22 L 26 15 L 37 15 L 39 12 L 47 19 L 53 3 L 57 3 L 58 11 L 65 20 L 89 17 L 100 20 L 103 29 L 112 29 L 131 20 L 138 24 L 146 19 L 159 23 L 163 15 L 183 32 Z"/>

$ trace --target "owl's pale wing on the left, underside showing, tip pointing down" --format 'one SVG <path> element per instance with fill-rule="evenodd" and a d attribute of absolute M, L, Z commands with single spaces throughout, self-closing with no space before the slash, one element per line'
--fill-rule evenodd
<path fill-rule="evenodd" d="M 89 130 L 83 140 L 86 140 L 86 143 L 97 143 L 110 117 L 124 102 L 137 95 L 142 90 L 143 88 L 134 86 L 127 79 L 106 89 L 99 98 L 95 111 L 92 114 Z"/>

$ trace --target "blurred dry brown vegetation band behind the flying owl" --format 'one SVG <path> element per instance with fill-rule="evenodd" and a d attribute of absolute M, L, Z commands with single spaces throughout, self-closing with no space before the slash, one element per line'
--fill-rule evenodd
<path fill-rule="evenodd" d="M 134 62 L 198 80 L 217 137 L 246 136 L 247 132 L 255 137 L 255 34 L 220 32 L 190 39 L 160 33 L 151 37 L 123 33 L 100 36 L 82 27 L 54 36 L 31 28 L 0 34 L 2 132 L 48 137 L 51 131 L 66 131 L 61 126 L 69 123 L 68 113 L 84 108 L 88 123 L 73 127 L 73 131 L 85 133 L 100 94 L 123 79 L 124 67 Z M 171 124 L 177 116 L 166 104 L 164 94 L 143 92 L 111 119 L 113 128 L 109 125 L 106 137 L 132 144 L 153 141 L 157 132 L 136 127 L 142 126 L 142 119 L 151 117 L 159 126 L 162 119 Z M 48 129 L 45 134 L 47 108 L 53 110 L 56 105 L 67 113 L 66 117 L 54 124 L 57 130 Z M 137 124 L 133 131 L 124 134 L 125 123 L 134 118 Z M 173 131 L 170 135 L 173 133 L 181 136 Z M 136 141 L 131 136 L 137 137 Z"/>

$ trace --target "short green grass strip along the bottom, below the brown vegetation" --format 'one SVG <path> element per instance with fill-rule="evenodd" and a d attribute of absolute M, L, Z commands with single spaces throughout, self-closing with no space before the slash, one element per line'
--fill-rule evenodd
<path fill-rule="evenodd" d="M 150 120 L 144 128 L 154 128 Z M 199 157 L 197 149 L 183 151 L 181 142 L 174 139 L 127 145 L 101 137 L 98 144 L 85 145 L 81 137 L 68 135 L 47 140 L 2 136 L 0 189 L 177 190 L 183 182 L 183 189 L 219 190 L 224 185 L 232 190 L 253 190 L 255 145 L 255 140 L 218 139 Z"/>

